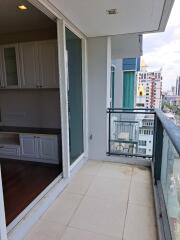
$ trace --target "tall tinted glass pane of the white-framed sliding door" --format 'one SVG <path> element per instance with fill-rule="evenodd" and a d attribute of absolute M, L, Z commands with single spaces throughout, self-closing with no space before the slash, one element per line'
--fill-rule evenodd
<path fill-rule="evenodd" d="M 70 163 L 83 152 L 82 41 L 66 28 Z"/>

